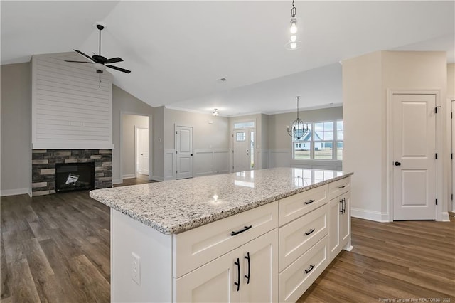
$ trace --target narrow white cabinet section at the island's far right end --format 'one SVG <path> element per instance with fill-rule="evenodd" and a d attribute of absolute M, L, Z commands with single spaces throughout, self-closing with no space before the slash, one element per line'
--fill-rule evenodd
<path fill-rule="evenodd" d="M 333 260 L 343 248 L 346 250 L 351 249 L 350 191 L 348 191 L 350 188 L 350 186 L 348 186 L 350 184 L 350 180 L 346 179 L 340 180 L 344 181 L 343 184 L 334 184 L 332 188 L 335 194 L 333 194 L 333 196 L 338 196 L 335 196 L 335 198 L 332 198 L 331 201 L 328 202 L 328 248 L 330 253 L 330 260 Z"/>

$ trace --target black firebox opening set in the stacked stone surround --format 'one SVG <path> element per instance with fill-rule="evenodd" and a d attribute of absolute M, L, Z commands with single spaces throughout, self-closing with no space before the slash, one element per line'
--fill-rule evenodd
<path fill-rule="evenodd" d="M 95 188 L 95 163 L 55 164 L 55 192 Z"/>

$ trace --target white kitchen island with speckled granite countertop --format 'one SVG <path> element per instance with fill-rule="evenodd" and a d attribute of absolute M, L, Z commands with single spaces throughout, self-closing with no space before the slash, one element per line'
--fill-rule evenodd
<path fill-rule="evenodd" d="M 112 302 L 295 302 L 351 248 L 350 175 L 276 168 L 91 191 L 111 208 Z"/>

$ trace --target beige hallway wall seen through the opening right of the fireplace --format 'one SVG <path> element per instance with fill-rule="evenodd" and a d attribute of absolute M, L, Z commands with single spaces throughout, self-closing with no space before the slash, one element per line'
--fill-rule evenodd
<path fill-rule="evenodd" d="M 136 164 L 134 163 L 136 152 L 136 128 L 149 129 L 149 117 L 139 115 L 122 116 L 122 177 L 132 178 L 136 176 Z"/>

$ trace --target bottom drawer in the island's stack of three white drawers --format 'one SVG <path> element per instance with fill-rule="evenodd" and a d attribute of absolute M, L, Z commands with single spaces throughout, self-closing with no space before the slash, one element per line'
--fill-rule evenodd
<path fill-rule="evenodd" d="M 328 240 L 323 238 L 279 274 L 279 302 L 296 302 L 328 265 Z"/>

